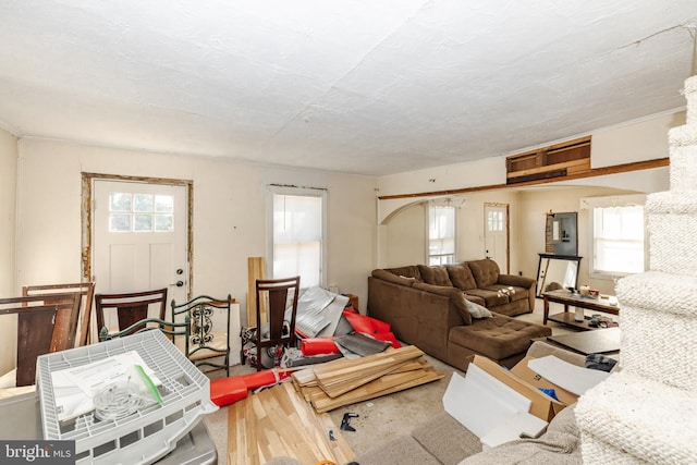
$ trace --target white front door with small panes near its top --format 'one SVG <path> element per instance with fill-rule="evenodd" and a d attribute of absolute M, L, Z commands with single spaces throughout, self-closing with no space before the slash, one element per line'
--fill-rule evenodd
<path fill-rule="evenodd" d="M 184 302 L 188 295 L 186 186 L 95 180 L 93 193 L 95 292 L 169 287 L 168 301 Z M 115 321 L 106 323 L 115 326 Z"/>

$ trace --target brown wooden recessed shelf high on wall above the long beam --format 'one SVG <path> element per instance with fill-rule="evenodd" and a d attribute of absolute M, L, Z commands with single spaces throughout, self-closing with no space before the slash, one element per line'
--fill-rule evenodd
<path fill-rule="evenodd" d="M 566 178 L 590 171 L 590 136 L 512 155 L 505 159 L 506 184 Z"/>

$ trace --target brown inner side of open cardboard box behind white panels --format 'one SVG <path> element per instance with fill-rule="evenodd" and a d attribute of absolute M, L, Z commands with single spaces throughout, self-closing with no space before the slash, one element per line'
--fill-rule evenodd
<path fill-rule="evenodd" d="M 490 360 L 487 357 L 475 355 L 470 363 L 478 366 L 499 381 L 503 382 L 509 388 L 512 388 L 519 394 L 529 399 L 531 402 L 530 414 L 545 421 L 550 421 L 566 406 L 566 404 L 553 400 L 552 397 L 537 389 L 536 386 L 531 384 L 523 378 L 519 378 L 513 371 L 509 371 L 508 369 L 501 367 L 499 364 Z M 525 364 L 525 368 L 527 369 L 527 363 Z"/>

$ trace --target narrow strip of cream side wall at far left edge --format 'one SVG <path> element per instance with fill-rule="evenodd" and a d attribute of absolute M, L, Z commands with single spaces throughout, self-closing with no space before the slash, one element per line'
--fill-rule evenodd
<path fill-rule="evenodd" d="M 17 140 L 0 129 L 0 297 L 15 293 L 15 210 Z M 16 317 L 0 316 L 0 376 L 14 368 Z"/>

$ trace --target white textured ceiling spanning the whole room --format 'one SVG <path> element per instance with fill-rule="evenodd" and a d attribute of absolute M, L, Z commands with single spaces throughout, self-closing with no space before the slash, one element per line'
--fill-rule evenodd
<path fill-rule="evenodd" d="M 695 0 L 0 0 L 17 136 L 391 174 L 685 105 Z"/>

